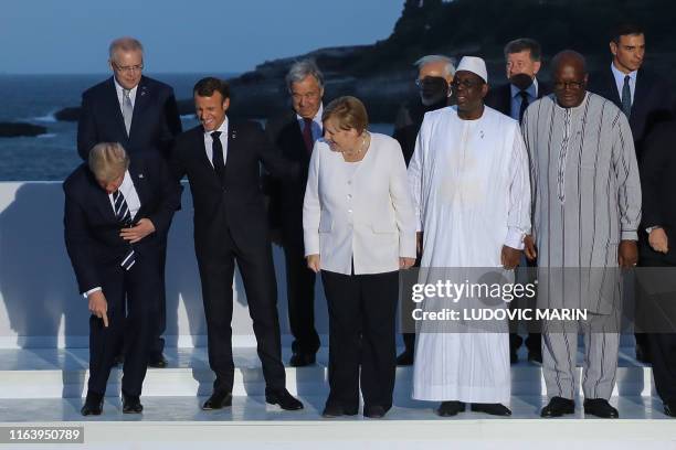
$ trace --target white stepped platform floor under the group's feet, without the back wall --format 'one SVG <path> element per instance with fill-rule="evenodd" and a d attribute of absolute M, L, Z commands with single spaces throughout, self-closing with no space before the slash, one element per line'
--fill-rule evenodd
<path fill-rule="evenodd" d="M 202 411 L 200 405 L 211 392 L 213 375 L 205 350 L 197 347 L 169 349 L 169 367 L 148 371 L 142 415 L 122 414 L 120 371 L 114 369 L 104 414 L 86 418 L 80 415 L 86 392 L 86 349 L 6 349 L 0 350 L 0 426 L 84 425 L 91 448 L 112 448 L 107 446 L 116 442 L 122 448 L 178 449 L 189 442 L 226 441 L 240 448 L 275 449 L 345 449 L 346 444 L 403 449 L 443 443 L 486 449 L 676 449 L 676 420 L 662 413 L 662 401 L 652 393 L 651 369 L 636 363 L 632 352 L 629 347 L 621 351 L 617 388 L 611 399 L 620 410 L 619 420 L 585 418 L 581 399 L 574 416 L 540 419 L 546 403 L 541 368 L 527 362 L 513 366 L 514 415 L 509 418 L 469 411 L 440 418 L 433 413 L 436 404 L 411 399 L 412 371 L 400 367 L 394 407 L 384 419 L 327 420 L 320 417 L 328 389 L 326 349 L 316 365 L 287 368 L 288 389 L 305 403 L 302 411 L 265 404 L 260 363 L 252 347 L 235 350 L 233 406 Z M 286 350 L 285 361 L 288 353 Z"/>

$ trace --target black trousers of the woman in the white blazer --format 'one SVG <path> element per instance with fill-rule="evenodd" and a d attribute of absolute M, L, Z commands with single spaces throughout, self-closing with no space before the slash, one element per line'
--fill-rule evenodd
<path fill-rule="evenodd" d="M 321 280 L 329 312 L 327 405 L 356 414 L 361 384 L 366 405 L 390 409 L 397 371 L 399 272 L 348 276 L 323 270 Z"/>

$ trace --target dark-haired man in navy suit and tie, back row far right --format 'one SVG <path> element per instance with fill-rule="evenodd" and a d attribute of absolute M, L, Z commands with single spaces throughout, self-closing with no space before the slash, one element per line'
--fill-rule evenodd
<path fill-rule="evenodd" d="M 651 130 L 673 115 L 674 97 L 669 84 L 659 74 L 643 67 L 645 34 L 635 24 L 622 24 L 614 30 L 610 50 L 610 67 L 590 76 L 589 90 L 613 101 L 629 117 L 634 137 L 638 168 L 643 161 L 644 141 Z M 641 234 L 644 240 L 646 235 Z M 642 248 L 646 248 L 645 245 Z M 642 262 L 641 262 L 642 264 Z M 648 341 L 636 333 L 636 360 L 652 360 Z"/>

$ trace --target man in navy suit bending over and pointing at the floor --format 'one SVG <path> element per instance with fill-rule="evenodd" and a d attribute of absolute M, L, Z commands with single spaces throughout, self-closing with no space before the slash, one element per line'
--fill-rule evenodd
<path fill-rule="evenodd" d="M 125 344 L 123 411 L 140 413 L 158 297 L 163 236 L 180 186 L 152 154 L 131 161 L 117 142 L 94 146 L 64 182 L 65 244 L 88 300 L 89 381 L 84 416 L 99 415 L 117 349 Z"/>

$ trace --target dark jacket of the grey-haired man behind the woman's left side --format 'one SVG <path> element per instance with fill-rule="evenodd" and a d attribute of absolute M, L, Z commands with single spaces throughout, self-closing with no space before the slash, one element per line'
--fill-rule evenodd
<path fill-rule="evenodd" d="M 303 200 L 307 184 L 310 153 L 305 147 L 303 131 L 296 111 L 288 111 L 270 119 L 265 126 L 267 139 L 276 151 L 288 161 L 296 162 L 299 175 L 294 179 L 276 179 L 265 175 L 265 193 L 270 195 L 270 218 L 273 227 L 300 225 L 303 229 Z"/>

